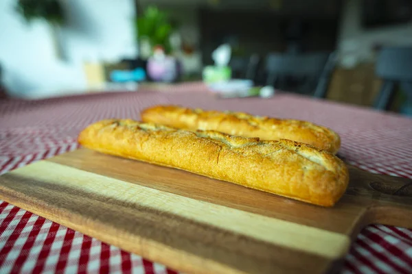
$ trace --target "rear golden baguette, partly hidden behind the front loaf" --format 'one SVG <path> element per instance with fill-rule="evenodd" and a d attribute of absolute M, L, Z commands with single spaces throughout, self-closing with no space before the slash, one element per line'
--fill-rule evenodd
<path fill-rule="evenodd" d="M 216 130 L 262 140 L 289 139 L 304 142 L 336 154 L 341 139 L 336 132 L 309 123 L 291 119 L 253 116 L 243 112 L 219 112 L 182 108 L 177 105 L 157 105 L 141 112 L 141 120 L 187 130 Z"/>

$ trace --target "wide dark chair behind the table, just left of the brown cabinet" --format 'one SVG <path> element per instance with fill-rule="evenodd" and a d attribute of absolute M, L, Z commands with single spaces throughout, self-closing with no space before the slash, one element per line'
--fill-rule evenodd
<path fill-rule="evenodd" d="M 335 64 L 336 53 L 271 53 L 266 59 L 266 84 L 290 90 L 286 80 L 291 77 L 299 82 L 295 92 L 323 98 Z"/>

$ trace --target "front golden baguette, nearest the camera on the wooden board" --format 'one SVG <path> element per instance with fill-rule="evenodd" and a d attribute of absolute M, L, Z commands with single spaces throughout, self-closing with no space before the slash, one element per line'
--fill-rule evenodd
<path fill-rule="evenodd" d="M 78 142 L 102 153 L 182 169 L 319 206 L 333 206 L 349 181 L 347 167 L 335 155 L 292 140 L 260 140 L 111 119 L 83 129 Z"/>

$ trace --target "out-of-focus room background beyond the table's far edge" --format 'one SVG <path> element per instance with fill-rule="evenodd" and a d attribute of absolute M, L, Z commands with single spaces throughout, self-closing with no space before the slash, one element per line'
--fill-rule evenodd
<path fill-rule="evenodd" d="M 0 1 L 2 99 L 185 82 L 411 116 L 412 1 Z"/>

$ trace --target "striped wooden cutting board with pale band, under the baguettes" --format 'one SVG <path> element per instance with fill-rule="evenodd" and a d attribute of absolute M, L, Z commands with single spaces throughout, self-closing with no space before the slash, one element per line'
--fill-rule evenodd
<path fill-rule="evenodd" d="M 321 208 L 79 149 L 0 176 L 0 198 L 186 273 L 327 273 L 365 225 L 412 227 L 409 179 L 350 176 Z"/>

